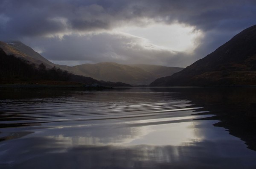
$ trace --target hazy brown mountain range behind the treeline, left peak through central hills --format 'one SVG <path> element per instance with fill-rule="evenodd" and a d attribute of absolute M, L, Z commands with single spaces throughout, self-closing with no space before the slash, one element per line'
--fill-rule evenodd
<path fill-rule="evenodd" d="M 148 85 L 159 77 L 169 76 L 183 69 L 159 65 L 122 65 L 114 62 L 83 64 L 70 67 L 66 65 L 56 65 L 50 62 L 32 48 L 19 41 L 8 43 L 0 42 L 0 48 L 2 48 L 6 54 L 26 59 L 36 66 L 43 63 L 46 68 L 55 66 L 56 68 L 67 70 L 70 73 L 92 77 L 99 81 L 124 82 L 132 85 Z"/>

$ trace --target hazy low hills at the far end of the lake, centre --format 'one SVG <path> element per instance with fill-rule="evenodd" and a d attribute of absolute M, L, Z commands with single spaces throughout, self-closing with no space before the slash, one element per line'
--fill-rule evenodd
<path fill-rule="evenodd" d="M 148 85 L 153 80 L 172 75 L 183 68 L 157 65 L 122 65 L 114 62 L 83 64 L 70 68 L 70 72 L 97 80 L 125 82 L 132 85 Z"/>

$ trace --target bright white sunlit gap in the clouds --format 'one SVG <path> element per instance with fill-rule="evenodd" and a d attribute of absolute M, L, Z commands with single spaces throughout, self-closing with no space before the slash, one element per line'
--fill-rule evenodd
<path fill-rule="evenodd" d="M 154 24 L 147 27 L 127 26 L 116 31 L 145 38 L 148 43 L 170 51 L 192 51 L 198 46 L 196 40 L 203 36 L 202 31 L 180 24 Z"/>

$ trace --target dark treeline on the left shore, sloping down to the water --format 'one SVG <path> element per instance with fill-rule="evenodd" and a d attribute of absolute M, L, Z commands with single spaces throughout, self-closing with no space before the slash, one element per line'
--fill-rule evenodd
<path fill-rule="evenodd" d="M 30 63 L 26 59 L 7 55 L 0 49 L 0 83 L 37 80 L 79 82 L 84 84 L 97 83 L 105 86 L 130 86 L 122 82 L 99 82 L 91 77 L 74 75 L 55 66 L 47 69 L 43 63 L 36 67 L 35 64 Z"/>

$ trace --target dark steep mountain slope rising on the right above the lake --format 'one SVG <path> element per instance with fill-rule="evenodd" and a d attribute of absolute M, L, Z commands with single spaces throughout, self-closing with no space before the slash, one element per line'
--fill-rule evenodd
<path fill-rule="evenodd" d="M 256 85 L 256 25 L 187 68 L 150 86 Z"/>

